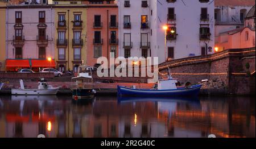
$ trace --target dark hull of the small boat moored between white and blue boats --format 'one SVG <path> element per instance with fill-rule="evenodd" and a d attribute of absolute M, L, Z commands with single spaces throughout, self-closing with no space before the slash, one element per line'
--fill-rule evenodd
<path fill-rule="evenodd" d="M 73 98 L 77 99 L 85 99 L 85 98 L 93 98 L 94 93 L 92 89 L 71 89 Z"/>

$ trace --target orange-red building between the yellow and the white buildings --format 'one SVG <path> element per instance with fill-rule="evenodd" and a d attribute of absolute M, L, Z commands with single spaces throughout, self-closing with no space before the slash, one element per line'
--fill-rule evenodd
<path fill-rule="evenodd" d="M 98 57 L 118 56 L 118 7 L 114 0 L 82 1 L 88 5 L 86 64 L 97 64 Z M 112 52 L 112 53 L 110 53 Z"/>

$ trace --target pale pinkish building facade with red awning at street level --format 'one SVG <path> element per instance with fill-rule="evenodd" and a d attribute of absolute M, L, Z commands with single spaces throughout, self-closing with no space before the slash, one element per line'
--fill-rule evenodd
<path fill-rule="evenodd" d="M 20 68 L 39 71 L 42 67 L 55 67 L 53 16 L 52 6 L 40 1 L 7 6 L 7 71 L 16 71 Z"/>

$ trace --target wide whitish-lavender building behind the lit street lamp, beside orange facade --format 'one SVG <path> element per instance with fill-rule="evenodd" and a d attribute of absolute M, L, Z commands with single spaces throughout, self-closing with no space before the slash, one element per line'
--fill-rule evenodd
<path fill-rule="evenodd" d="M 130 3 L 130 7 L 125 7 L 125 3 Z M 123 43 L 129 42 L 133 45 L 130 56 L 156 56 L 159 63 L 213 53 L 208 48 L 214 47 L 214 2 L 141 1 L 142 5 L 147 3 L 146 8 L 138 3 L 137 0 L 118 1 L 119 45 L 122 45 L 119 46 L 119 56 L 127 57 L 127 47 L 123 47 Z M 126 15 L 130 16 L 129 29 L 123 28 L 123 24 L 129 24 L 129 18 L 124 19 Z M 141 28 L 143 15 L 147 15 L 146 30 Z M 166 32 L 163 26 L 168 27 Z M 147 43 L 146 46 L 143 43 Z"/>

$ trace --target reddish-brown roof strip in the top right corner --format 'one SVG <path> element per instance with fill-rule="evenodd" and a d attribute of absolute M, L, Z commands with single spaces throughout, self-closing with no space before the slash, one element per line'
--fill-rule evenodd
<path fill-rule="evenodd" d="M 255 0 L 214 0 L 215 6 L 254 6 Z"/>

